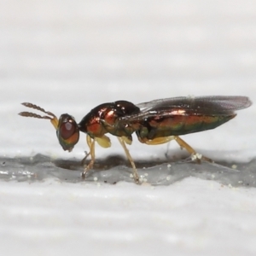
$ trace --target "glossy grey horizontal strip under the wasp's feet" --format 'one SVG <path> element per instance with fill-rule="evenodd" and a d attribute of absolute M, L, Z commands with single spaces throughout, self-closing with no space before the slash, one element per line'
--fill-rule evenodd
<path fill-rule="evenodd" d="M 0 163 L 2 163 L 0 179 L 4 180 L 32 182 L 54 177 L 68 183 L 84 183 L 84 179 L 80 178 L 83 166 L 77 159 L 52 160 L 49 156 L 37 154 L 34 157 L 0 158 Z M 137 171 L 143 183 L 151 185 L 170 185 L 187 177 L 198 177 L 233 187 L 256 187 L 255 166 L 256 159 L 243 164 L 206 161 L 201 165 L 190 159 L 137 161 Z M 133 178 L 129 171 L 129 162 L 119 154 L 112 154 L 96 160 L 94 171 L 90 172 L 86 182 L 132 183 Z"/>

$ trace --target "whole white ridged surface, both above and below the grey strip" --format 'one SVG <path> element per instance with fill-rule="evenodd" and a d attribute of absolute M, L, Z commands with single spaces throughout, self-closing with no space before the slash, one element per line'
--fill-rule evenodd
<path fill-rule="evenodd" d="M 78 120 L 120 99 L 231 94 L 256 102 L 255 17 L 249 0 L 2 1 L 0 155 L 83 157 L 83 138 L 72 154 L 62 152 L 47 121 L 17 115 L 25 111 L 20 102 Z M 255 113 L 254 104 L 186 141 L 214 159 L 250 160 Z M 120 150 L 113 140 L 96 155 Z M 165 152 L 131 147 L 135 158 Z M 3 255 L 256 253 L 255 189 L 195 177 L 154 189 L 1 181 L 0 201 Z"/>

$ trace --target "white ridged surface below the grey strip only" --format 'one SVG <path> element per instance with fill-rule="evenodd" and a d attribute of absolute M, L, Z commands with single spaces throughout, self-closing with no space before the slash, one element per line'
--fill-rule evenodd
<path fill-rule="evenodd" d="M 3 255 L 255 253 L 255 189 L 196 178 L 158 188 L 0 184 Z"/>

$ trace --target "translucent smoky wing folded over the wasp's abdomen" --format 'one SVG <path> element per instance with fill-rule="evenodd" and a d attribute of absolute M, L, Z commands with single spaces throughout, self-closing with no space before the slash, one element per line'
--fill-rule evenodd
<path fill-rule="evenodd" d="M 236 110 L 248 108 L 252 102 L 246 96 L 199 96 L 172 97 L 137 104 L 140 113 L 120 118 L 121 123 L 129 123 L 151 117 L 174 115 L 230 115 Z"/>

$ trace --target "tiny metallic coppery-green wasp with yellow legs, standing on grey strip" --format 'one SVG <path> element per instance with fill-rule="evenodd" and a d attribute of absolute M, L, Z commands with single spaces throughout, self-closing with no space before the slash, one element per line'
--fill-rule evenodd
<path fill-rule="evenodd" d="M 197 154 L 189 144 L 179 136 L 214 129 L 233 119 L 235 111 L 248 108 L 252 102 L 246 96 L 200 96 L 174 97 L 143 102 L 134 105 L 131 102 L 118 101 L 104 103 L 87 113 L 79 124 L 73 116 L 64 113 L 60 119 L 55 114 L 45 111 L 32 103 L 22 103 L 27 108 L 34 108 L 48 115 L 21 112 L 24 117 L 49 119 L 54 125 L 56 134 L 64 150 L 72 151 L 79 141 L 79 131 L 87 134 L 86 140 L 90 152 L 90 163 L 84 167 L 82 177 L 93 167 L 95 162 L 95 142 L 103 148 L 111 146 L 110 139 L 105 135 L 110 133 L 118 137 L 119 143 L 131 162 L 133 177 L 139 183 L 139 176 L 131 154 L 125 144 L 131 145 L 132 133 L 136 133 L 141 143 L 157 145 L 175 140 L 181 148 L 186 148 L 192 160 L 211 161 Z"/>

